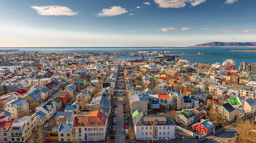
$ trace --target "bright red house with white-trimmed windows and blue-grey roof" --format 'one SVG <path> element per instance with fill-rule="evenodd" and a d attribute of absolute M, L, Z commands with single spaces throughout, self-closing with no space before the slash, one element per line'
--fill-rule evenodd
<path fill-rule="evenodd" d="M 210 119 L 202 119 L 200 123 L 194 125 L 194 130 L 200 132 L 201 134 L 210 134 L 214 132 L 215 125 Z"/>

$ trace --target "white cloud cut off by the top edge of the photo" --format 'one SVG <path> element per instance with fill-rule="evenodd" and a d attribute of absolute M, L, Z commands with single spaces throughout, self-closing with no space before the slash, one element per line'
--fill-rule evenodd
<path fill-rule="evenodd" d="M 163 8 L 182 8 L 190 3 L 192 6 L 197 6 L 206 0 L 154 0 L 159 7 Z"/>

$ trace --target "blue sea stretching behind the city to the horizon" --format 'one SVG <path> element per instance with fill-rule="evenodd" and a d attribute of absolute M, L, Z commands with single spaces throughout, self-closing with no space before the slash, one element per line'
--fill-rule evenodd
<path fill-rule="evenodd" d="M 208 63 L 213 64 L 216 62 L 222 63 L 227 59 L 233 59 L 236 61 L 236 65 L 239 65 L 241 62 L 256 63 L 256 52 L 242 52 L 242 51 L 230 51 L 235 50 L 248 50 L 255 48 L 194 48 L 194 47 L 170 47 L 170 48 L 161 48 L 161 47 L 152 47 L 152 48 L 0 48 L 0 49 L 19 49 L 19 52 L 33 53 L 38 51 L 39 53 L 76 53 L 76 52 L 137 52 L 137 51 L 169 51 L 174 53 L 214 53 L 214 55 L 201 55 L 201 54 L 175 54 L 184 59 L 190 60 L 192 63 Z M 14 52 L 9 52 L 14 53 Z M 144 58 L 150 58 L 152 60 L 156 56 L 144 56 Z M 132 60 L 140 57 L 118 57 L 117 60 Z"/>

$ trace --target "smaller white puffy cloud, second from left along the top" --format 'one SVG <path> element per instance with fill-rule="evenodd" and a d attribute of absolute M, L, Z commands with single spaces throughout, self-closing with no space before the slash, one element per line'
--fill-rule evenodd
<path fill-rule="evenodd" d="M 101 13 L 98 13 L 97 16 L 118 16 L 127 12 L 128 11 L 121 6 L 112 6 L 110 8 L 103 8 Z"/>

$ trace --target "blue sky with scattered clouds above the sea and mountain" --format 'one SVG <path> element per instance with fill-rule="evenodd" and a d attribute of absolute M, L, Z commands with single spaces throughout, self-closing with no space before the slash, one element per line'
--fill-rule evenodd
<path fill-rule="evenodd" d="M 256 42 L 256 0 L 0 0 L 0 47 Z"/>

